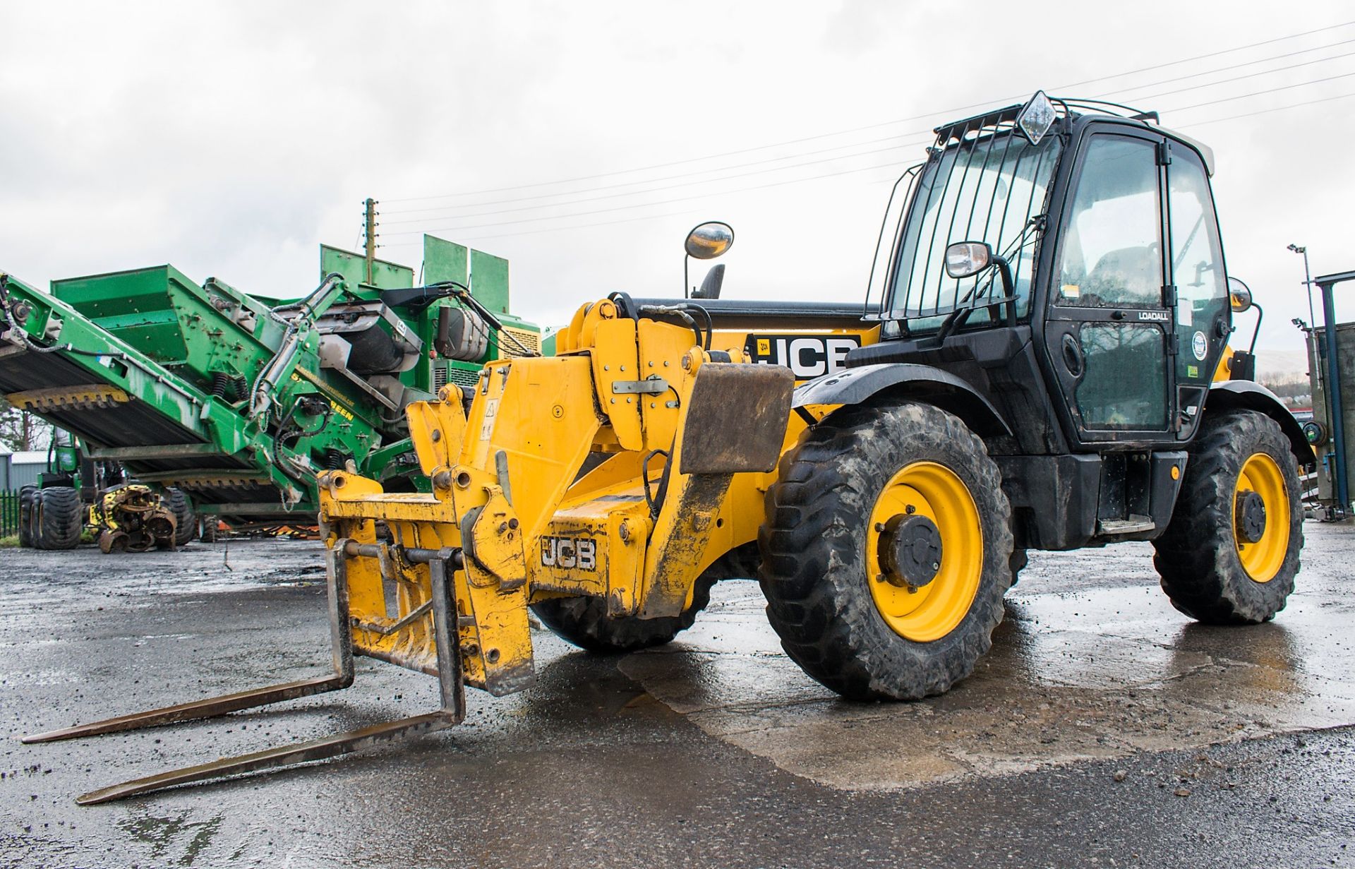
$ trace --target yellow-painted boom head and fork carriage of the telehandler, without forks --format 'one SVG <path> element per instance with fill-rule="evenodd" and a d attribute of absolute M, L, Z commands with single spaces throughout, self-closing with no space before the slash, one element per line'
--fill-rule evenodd
<path fill-rule="evenodd" d="M 793 335 L 866 344 L 878 329 Z M 717 331 L 710 347 L 747 362 L 745 343 L 757 347 L 745 331 Z M 527 606 L 535 601 L 589 595 L 612 617 L 680 613 L 707 567 L 756 540 L 775 477 L 682 473 L 692 390 L 703 366 L 722 363 L 713 358 L 690 328 L 619 316 L 614 302 L 598 301 L 558 334 L 556 357 L 489 363 L 469 413 L 454 389 L 408 407 L 431 493 L 322 474 L 327 545 L 351 540 L 350 549 L 370 549 L 378 522 L 393 541 L 379 545 L 379 557 L 346 552 L 355 652 L 436 672 L 428 565 L 402 559 L 408 549 L 461 552 L 453 587 L 462 667 L 467 685 L 493 694 L 533 681 Z M 804 428 L 787 412 L 782 453 Z M 661 508 L 652 512 L 646 488 L 653 496 L 665 473 Z"/>

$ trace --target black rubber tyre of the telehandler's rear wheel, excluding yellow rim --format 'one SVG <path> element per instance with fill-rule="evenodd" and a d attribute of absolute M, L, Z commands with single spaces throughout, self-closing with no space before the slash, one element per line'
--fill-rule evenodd
<path fill-rule="evenodd" d="M 1279 465 L 1289 492 L 1289 550 L 1274 579 L 1252 580 L 1237 559 L 1234 488 L 1248 457 L 1266 453 Z M 1298 469 L 1279 423 L 1256 411 L 1229 411 L 1201 423 L 1190 446 L 1186 479 L 1167 530 L 1153 541 L 1153 565 L 1172 606 L 1210 625 L 1255 625 L 1275 618 L 1294 591 L 1304 548 Z"/>

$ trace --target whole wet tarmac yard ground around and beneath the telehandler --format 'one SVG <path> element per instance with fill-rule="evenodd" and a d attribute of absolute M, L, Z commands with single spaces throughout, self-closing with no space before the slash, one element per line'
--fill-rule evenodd
<path fill-rule="evenodd" d="M 755 583 L 672 645 L 535 633 L 538 685 L 461 728 L 80 808 L 126 778 L 428 712 L 428 676 L 84 740 L 24 733 L 320 675 L 313 542 L 0 550 L 0 866 L 1355 865 L 1355 529 L 1305 527 L 1275 622 L 1194 625 L 1152 550 L 1037 553 L 944 697 L 850 704 Z"/>

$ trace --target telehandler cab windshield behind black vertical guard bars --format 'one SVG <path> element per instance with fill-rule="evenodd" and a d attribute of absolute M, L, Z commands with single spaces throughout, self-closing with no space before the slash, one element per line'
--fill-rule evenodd
<path fill-rule="evenodd" d="M 963 279 L 946 275 L 946 245 L 955 241 L 986 241 L 1011 262 L 1016 316 L 1024 315 L 1038 240 L 1031 217 L 1045 210 L 1060 146 L 1057 136 L 1031 145 L 999 133 L 934 153 L 917 180 L 897 248 L 889 316 L 925 329 L 974 300 L 1003 296 L 995 268 Z M 986 316 L 986 309 L 976 310 L 969 323 Z"/>

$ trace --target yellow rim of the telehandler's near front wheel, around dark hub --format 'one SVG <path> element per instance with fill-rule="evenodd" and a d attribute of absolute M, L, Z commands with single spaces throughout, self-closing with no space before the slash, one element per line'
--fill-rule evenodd
<path fill-rule="evenodd" d="M 890 582 L 881 560 L 886 523 L 923 515 L 936 525 L 940 561 L 924 586 Z M 950 468 L 913 462 L 890 477 L 870 511 L 866 533 L 866 582 L 875 609 L 894 633 L 916 643 L 939 640 L 969 613 L 984 573 L 984 530 L 969 487 Z"/>

